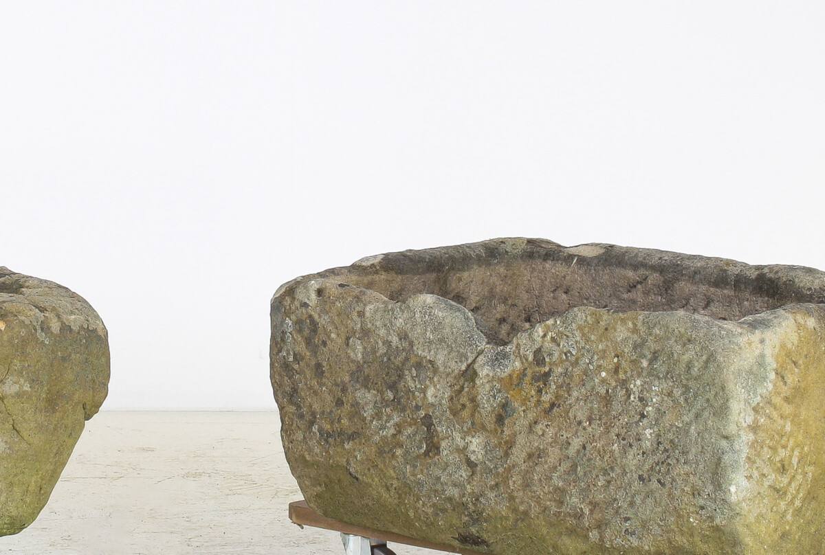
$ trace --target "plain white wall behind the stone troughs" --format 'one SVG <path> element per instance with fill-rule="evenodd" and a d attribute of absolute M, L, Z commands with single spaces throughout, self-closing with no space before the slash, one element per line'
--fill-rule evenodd
<path fill-rule="evenodd" d="M 823 2 L 0 0 L 0 265 L 104 408 L 271 408 L 271 294 L 505 236 L 825 269 Z"/>

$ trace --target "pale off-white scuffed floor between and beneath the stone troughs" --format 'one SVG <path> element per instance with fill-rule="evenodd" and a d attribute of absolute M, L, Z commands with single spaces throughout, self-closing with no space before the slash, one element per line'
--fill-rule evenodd
<path fill-rule="evenodd" d="M 101 412 L 48 505 L 0 537 L 0 553 L 343 555 L 337 533 L 287 517 L 302 496 L 278 426 L 276 412 Z"/>

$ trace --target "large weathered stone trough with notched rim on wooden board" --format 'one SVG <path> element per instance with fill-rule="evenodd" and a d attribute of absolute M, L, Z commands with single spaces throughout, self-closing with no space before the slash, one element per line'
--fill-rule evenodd
<path fill-rule="evenodd" d="M 825 553 L 825 273 L 499 239 L 282 285 L 310 506 L 501 555 Z"/>

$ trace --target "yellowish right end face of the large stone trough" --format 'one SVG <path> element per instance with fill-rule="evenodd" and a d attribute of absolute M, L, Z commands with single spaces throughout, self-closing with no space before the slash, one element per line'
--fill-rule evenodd
<path fill-rule="evenodd" d="M 745 553 L 825 553 L 825 313 L 812 312 L 790 313 L 771 392 L 753 409 Z"/>

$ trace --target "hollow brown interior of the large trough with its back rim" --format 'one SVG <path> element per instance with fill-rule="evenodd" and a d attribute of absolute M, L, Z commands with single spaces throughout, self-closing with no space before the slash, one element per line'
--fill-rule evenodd
<path fill-rule="evenodd" d="M 534 239 L 513 248 L 512 241 L 391 253 L 329 273 L 388 299 L 422 293 L 450 299 L 473 313 L 497 344 L 581 306 L 682 310 L 737 321 L 785 304 L 825 302 L 825 273 L 800 266 L 748 266 L 614 245 L 566 248 Z"/>

